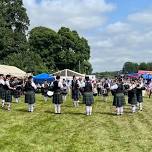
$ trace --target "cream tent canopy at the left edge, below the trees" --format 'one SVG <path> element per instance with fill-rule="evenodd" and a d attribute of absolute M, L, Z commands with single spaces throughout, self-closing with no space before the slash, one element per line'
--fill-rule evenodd
<path fill-rule="evenodd" d="M 0 65 L 0 74 L 10 74 L 11 76 L 15 77 L 26 77 L 26 72 L 22 71 L 21 69 L 15 67 L 15 66 L 9 66 L 9 65 Z"/>

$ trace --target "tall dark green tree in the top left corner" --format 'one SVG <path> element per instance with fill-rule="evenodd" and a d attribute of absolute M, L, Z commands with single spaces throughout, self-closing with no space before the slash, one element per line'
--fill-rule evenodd
<path fill-rule="evenodd" d="M 0 57 L 27 50 L 26 31 L 29 19 L 22 0 L 0 2 Z"/>

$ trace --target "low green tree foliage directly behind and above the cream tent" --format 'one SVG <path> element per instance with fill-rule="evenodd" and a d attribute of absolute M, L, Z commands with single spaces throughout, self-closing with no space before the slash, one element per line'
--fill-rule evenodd
<path fill-rule="evenodd" d="M 16 66 L 26 72 L 41 73 L 48 71 L 41 57 L 31 51 L 8 55 L 3 60 L 3 63 L 6 65 Z"/>

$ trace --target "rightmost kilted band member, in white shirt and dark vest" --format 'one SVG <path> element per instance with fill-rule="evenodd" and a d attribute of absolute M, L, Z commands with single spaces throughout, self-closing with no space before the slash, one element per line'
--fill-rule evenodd
<path fill-rule="evenodd" d="M 137 96 L 137 107 L 142 111 L 143 109 L 143 95 L 142 91 L 145 90 L 144 84 L 139 80 L 136 87 L 136 96 Z"/>

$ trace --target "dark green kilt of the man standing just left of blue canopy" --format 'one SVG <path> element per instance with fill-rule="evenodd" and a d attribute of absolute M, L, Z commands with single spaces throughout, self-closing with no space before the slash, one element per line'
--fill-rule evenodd
<path fill-rule="evenodd" d="M 35 92 L 27 91 L 25 93 L 25 103 L 34 104 L 35 103 Z"/>

